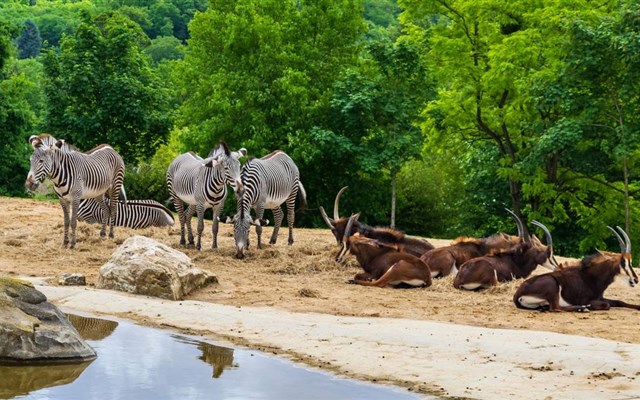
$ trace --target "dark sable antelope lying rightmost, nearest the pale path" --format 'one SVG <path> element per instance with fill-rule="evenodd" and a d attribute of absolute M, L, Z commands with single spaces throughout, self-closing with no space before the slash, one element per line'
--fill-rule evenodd
<path fill-rule="evenodd" d="M 627 233 L 616 227 L 624 240 L 608 227 L 620 243 L 620 253 L 598 251 L 584 257 L 577 266 L 534 276 L 522 282 L 513 296 L 516 307 L 529 310 L 588 311 L 626 307 L 640 310 L 640 305 L 604 298 L 604 291 L 624 271 L 628 284 L 634 287 L 638 275 L 631 265 L 631 240 Z"/>

